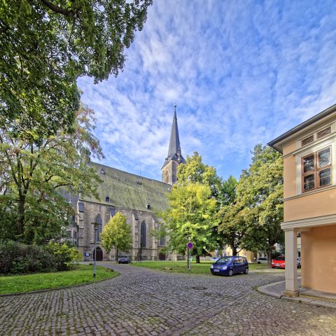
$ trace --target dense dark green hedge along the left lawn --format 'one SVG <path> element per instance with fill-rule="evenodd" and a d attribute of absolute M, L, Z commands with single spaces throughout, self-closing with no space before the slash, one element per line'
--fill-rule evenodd
<path fill-rule="evenodd" d="M 57 272 L 72 269 L 81 255 L 66 244 L 26 245 L 0 242 L 0 274 Z"/>

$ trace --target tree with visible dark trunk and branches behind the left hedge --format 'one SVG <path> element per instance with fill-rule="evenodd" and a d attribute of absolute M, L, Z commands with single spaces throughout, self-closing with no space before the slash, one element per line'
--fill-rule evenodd
<path fill-rule="evenodd" d="M 92 195 L 99 176 L 87 166 L 87 155 L 101 158 L 99 141 L 92 135 L 93 111 L 81 106 L 74 132 L 34 141 L 13 137 L 10 125 L 0 127 L 1 236 L 43 244 L 62 236 L 71 214 L 64 193 Z M 29 132 L 29 130 L 27 130 Z M 6 229 L 11 226 L 6 237 Z"/>

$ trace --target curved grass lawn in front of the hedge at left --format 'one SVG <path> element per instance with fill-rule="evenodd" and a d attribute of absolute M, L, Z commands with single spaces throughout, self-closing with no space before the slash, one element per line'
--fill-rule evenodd
<path fill-rule="evenodd" d="M 118 272 L 111 272 L 111 269 L 97 266 L 96 277 L 94 279 L 93 265 L 78 265 L 77 269 L 64 272 L 0 276 L 0 294 L 62 288 L 113 278 L 117 275 Z"/>

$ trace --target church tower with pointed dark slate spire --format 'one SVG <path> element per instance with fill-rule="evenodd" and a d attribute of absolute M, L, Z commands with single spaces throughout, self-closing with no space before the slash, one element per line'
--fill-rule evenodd
<path fill-rule="evenodd" d="M 181 153 L 179 138 L 179 127 L 177 126 L 176 104 L 174 105 L 174 118 L 172 124 L 172 133 L 170 134 L 168 156 L 162 166 L 162 181 L 165 183 L 177 182 L 177 167 L 181 163 L 186 163 Z"/>

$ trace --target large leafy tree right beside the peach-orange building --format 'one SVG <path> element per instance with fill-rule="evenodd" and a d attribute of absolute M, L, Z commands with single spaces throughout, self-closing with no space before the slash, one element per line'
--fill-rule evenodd
<path fill-rule="evenodd" d="M 237 188 L 248 226 L 247 248 L 267 251 L 269 265 L 274 244 L 283 242 L 283 159 L 269 146 L 257 144 L 252 163 Z"/>

